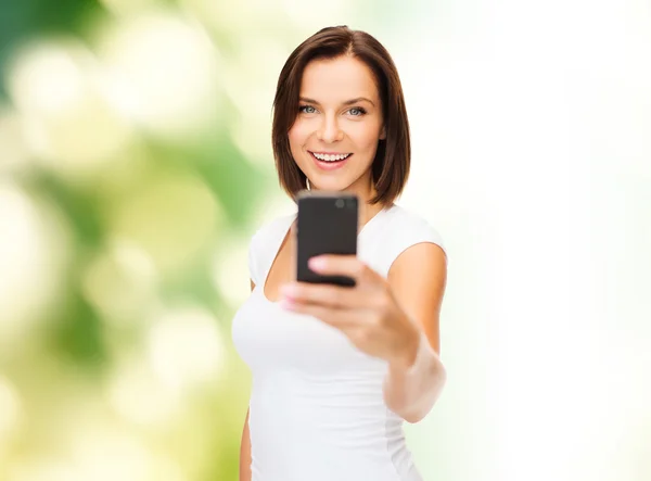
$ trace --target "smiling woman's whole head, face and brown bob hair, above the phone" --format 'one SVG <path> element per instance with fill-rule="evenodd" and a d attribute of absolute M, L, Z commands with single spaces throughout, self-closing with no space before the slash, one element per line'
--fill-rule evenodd
<path fill-rule="evenodd" d="M 276 165 L 291 197 L 308 179 L 328 190 L 372 186 L 371 204 L 391 203 L 403 191 L 409 119 L 397 69 L 372 36 L 336 27 L 305 40 L 280 73 L 273 107 Z M 344 155 L 341 165 L 326 164 Z"/>

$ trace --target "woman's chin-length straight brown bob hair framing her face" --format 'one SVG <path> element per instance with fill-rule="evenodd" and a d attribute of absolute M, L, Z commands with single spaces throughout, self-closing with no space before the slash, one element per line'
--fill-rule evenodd
<path fill-rule="evenodd" d="M 409 176 L 411 145 L 409 122 L 403 87 L 395 64 L 386 49 L 371 35 L 347 26 L 319 30 L 292 52 L 285 62 L 273 99 L 271 140 L 280 185 L 292 199 L 307 188 L 305 174 L 290 151 L 288 132 L 298 113 L 298 97 L 303 72 L 317 59 L 352 55 L 369 66 L 375 77 L 382 103 L 386 138 L 380 140 L 372 164 L 372 178 L 378 194 L 372 204 L 391 204 L 403 191 Z"/>

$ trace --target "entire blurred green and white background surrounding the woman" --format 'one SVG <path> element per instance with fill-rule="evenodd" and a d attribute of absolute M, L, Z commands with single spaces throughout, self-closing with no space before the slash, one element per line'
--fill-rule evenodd
<path fill-rule="evenodd" d="M 651 479 L 647 3 L 0 0 L 1 481 L 237 480 L 276 80 L 337 24 L 449 253 L 424 479 Z"/>

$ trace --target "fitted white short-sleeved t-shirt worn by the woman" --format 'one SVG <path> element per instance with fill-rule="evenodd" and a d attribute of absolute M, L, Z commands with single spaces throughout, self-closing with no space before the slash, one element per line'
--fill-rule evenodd
<path fill-rule="evenodd" d="M 232 325 L 253 374 L 248 428 L 252 481 L 421 481 L 403 419 L 384 403 L 385 360 L 359 351 L 319 319 L 284 311 L 264 294 L 267 275 L 296 218 L 264 225 L 252 238 L 255 289 Z M 357 255 L 386 277 L 407 248 L 441 236 L 392 205 L 359 232 Z"/>

